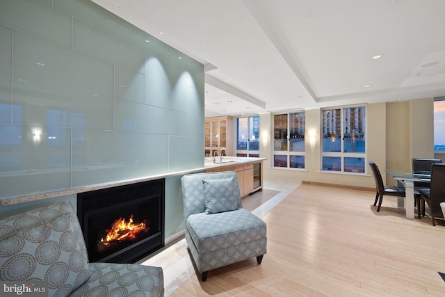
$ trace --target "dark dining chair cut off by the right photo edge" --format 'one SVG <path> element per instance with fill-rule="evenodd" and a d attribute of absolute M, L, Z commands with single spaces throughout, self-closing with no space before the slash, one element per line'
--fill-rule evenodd
<path fill-rule="evenodd" d="M 420 191 L 423 203 L 426 202 L 430 208 L 432 225 L 436 225 L 436 218 L 444 218 L 441 202 L 445 202 L 445 164 L 434 163 L 431 166 L 430 188 Z M 425 209 L 425 208 L 423 208 Z"/>

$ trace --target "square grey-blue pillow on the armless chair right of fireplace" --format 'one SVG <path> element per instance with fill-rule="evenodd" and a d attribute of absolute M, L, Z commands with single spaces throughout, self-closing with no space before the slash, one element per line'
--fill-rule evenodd
<path fill-rule="evenodd" d="M 206 214 L 232 211 L 241 208 L 239 191 L 233 186 L 233 177 L 223 179 L 202 179 Z"/>

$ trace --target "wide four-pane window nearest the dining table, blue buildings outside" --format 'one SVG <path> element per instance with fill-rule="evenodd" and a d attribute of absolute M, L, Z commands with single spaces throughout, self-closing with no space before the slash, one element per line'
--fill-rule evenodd
<path fill-rule="evenodd" d="M 365 106 L 323 110 L 322 170 L 364 173 Z"/>

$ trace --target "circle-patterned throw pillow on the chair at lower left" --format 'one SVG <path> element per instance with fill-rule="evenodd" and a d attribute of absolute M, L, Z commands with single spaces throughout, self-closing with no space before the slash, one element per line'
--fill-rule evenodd
<path fill-rule="evenodd" d="M 49 212 L 47 212 L 49 213 Z M 72 214 L 52 219 L 24 214 L 0 220 L 0 275 L 3 281 L 44 281 L 49 296 L 67 296 L 90 278 Z"/>

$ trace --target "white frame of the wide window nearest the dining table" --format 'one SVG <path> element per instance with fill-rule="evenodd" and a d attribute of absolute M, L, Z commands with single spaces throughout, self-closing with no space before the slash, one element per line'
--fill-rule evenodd
<path fill-rule="evenodd" d="M 345 142 L 345 110 L 346 109 L 355 109 L 359 107 L 364 107 L 364 139 L 365 139 L 365 145 L 364 145 L 364 152 L 345 152 L 344 151 L 344 142 Z M 368 141 L 366 141 L 366 134 L 368 133 L 368 111 L 367 111 L 367 104 L 353 104 L 348 106 L 330 106 L 326 107 L 324 109 L 321 109 L 321 116 L 320 116 L 320 171 L 321 172 L 327 172 L 327 173 L 337 173 L 337 174 L 347 174 L 347 175 L 368 175 L 368 167 L 366 166 L 367 160 L 368 160 Z M 323 130 L 323 113 L 325 111 L 332 111 L 340 109 L 340 137 L 339 140 L 341 141 L 340 144 L 340 151 L 339 152 L 325 152 L 324 151 L 324 130 Z M 340 170 L 325 170 L 323 169 L 323 157 L 335 157 L 340 158 Z M 353 172 L 353 171 L 345 171 L 345 159 L 346 158 L 363 158 L 364 164 L 363 164 L 363 172 Z"/>

